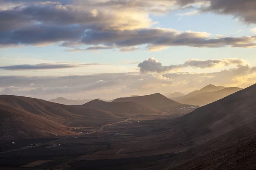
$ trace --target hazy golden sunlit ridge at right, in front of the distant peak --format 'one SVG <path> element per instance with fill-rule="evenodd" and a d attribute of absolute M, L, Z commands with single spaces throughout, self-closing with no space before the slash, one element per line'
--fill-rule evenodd
<path fill-rule="evenodd" d="M 212 92 L 204 92 L 189 98 L 178 100 L 180 103 L 188 104 L 188 105 L 199 105 L 204 106 L 209 103 L 215 102 L 219 99 L 222 99 L 230 94 L 233 94 L 237 91 L 242 90 L 242 88 L 224 88 L 219 91 L 212 91 Z"/>

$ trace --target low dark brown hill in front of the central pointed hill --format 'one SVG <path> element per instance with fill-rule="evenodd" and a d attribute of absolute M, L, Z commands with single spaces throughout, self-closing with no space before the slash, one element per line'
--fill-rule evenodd
<path fill-rule="evenodd" d="M 95 99 L 83 105 L 86 108 L 96 108 L 104 111 L 110 111 L 112 113 L 159 113 L 152 108 L 147 108 L 144 105 L 137 104 L 135 102 L 105 102 L 99 99 Z"/>

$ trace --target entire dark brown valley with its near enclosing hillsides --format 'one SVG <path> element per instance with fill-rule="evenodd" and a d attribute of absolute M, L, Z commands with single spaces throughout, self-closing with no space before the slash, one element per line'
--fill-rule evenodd
<path fill-rule="evenodd" d="M 113 102 L 96 99 L 75 106 L 1 96 L 4 113 L 9 111 L 9 114 L 17 116 L 23 111 L 20 117 L 27 120 L 32 120 L 34 117 L 31 115 L 34 114 L 39 120 L 47 117 L 46 120 L 56 126 L 52 128 L 58 128 L 61 133 L 56 135 L 49 129 L 47 136 L 45 133 L 36 133 L 38 137 L 2 136 L 0 167 L 35 170 L 212 170 L 231 166 L 239 170 L 244 161 L 248 161 L 248 167 L 253 168 L 256 156 L 253 149 L 256 139 L 255 87 L 253 85 L 200 108 L 182 105 L 160 94 L 119 98 Z M 24 108 L 24 101 L 33 105 Z M 152 105 L 153 101 L 158 101 L 158 107 Z M 17 110 L 12 108 L 14 105 Z M 45 105 L 44 109 L 41 105 Z M 55 106 L 52 109 L 58 114 L 46 110 L 48 105 Z M 164 111 L 166 108 L 169 111 Z M 30 116 L 25 117 L 26 114 Z M 17 127 L 17 122 L 11 121 L 12 118 L 6 117 L 6 122 L 10 121 L 11 127 L 15 125 L 22 130 Z M 33 129 L 34 126 L 30 124 L 27 128 Z"/>

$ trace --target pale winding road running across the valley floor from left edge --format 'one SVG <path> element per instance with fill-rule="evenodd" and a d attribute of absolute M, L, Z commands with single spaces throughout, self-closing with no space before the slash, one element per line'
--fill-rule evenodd
<path fill-rule="evenodd" d="M 131 119 L 129 119 L 129 120 L 131 120 Z M 55 140 L 55 141 L 51 141 L 51 142 L 47 142 L 47 143 L 43 143 L 43 144 L 38 144 L 38 145 L 36 145 L 36 146 L 23 147 L 23 148 L 14 149 L 14 150 L 8 150 L 8 151 L 5 151 L 5 152 L 0 152 L 0 154 L 1 154 L 1 153 L 15 152 L 15 151 L 19 151 L 19 150 L 25 150 L 25 149 L 29 149 L 29 148 L 32 148 L 32 147 L 39 147 L 39 146 L 42 146 L 42 145 L 45 145 L 45 144 L 50 144 L 50 143 L 58 142 L 58 141 L 65 140 L 65 139 L 70 139 L 70 138 L 74 138 L 74 137 L 79 137 L 79 136 L 88 135 L 88 134 L 91 134 L 91 133 L 96 133 L 96 132 L 99 132 L 99 131 L 103 130 L 103 128 L 104 128 L 105 126 L 111 126 L 111 125 L 115 125 L 115 124 L 122 123 L 122 122 L 125 122 L 125 120 L 124 120 L 124 121 L 121 121 L 121 122 L 111 123 L 111 124 L 108 124 L 108 125 L 103 125 L 103 126 L 101 126 L 101 127 L 99 128 L 99 130 L 95 130 L 95 131 L 93 131 L 93 132 L 83 133 L 83 134 L 81 134 L 81 135 L 76 135 L 76 136 L 69 136 L 69 137 L 61 138 L 61 139 L 58 139 L 58 140 Z"/>

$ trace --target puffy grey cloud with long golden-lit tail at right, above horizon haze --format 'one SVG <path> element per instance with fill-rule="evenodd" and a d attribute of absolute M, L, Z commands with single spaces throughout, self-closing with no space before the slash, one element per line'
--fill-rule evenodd
<path fill-rule="evenodd" d="M 243 65 L 246 64 L 244 59 L 230 58 L 230 59 L 187 59 L 184 64 L 163 66 L 161 62 L 156 59 L 148 58 L 143 62 L 140 62 L 138 67 L 141 73 L 157 72 L 162 73 L 166 71 L 173 71 L 181 68 L 213 68 L 217 66 L 229 66 L 229 65 Z"/>

